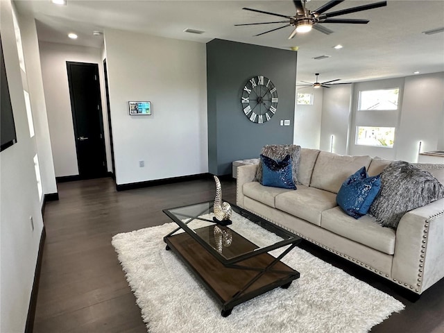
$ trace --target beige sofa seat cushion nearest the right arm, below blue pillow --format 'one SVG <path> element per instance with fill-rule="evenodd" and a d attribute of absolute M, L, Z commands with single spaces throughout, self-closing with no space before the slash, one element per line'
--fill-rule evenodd
<path fill-rule="evenodd" d="M 369 215 L 357 220 L 334 207 L 322 213 L 321 227 L 388 255 L 395 253 L 395 230 L 375 223 Z"/>

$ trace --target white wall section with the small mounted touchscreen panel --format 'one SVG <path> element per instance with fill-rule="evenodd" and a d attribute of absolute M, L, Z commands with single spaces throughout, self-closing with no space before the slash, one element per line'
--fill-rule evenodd
<path fill-rule="evenodd" d="M 117 184 L 207 172 L 205 44 L 104 36 Z M 128 101 L 151 101 L 153 114 L 130 116 Z"/>

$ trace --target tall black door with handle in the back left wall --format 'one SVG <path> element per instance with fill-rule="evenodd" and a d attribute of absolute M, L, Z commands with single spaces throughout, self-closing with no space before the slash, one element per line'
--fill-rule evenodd
<path fill-rule="evenodd" d="M 106 175 L 106 161 L 99 66 L 67 62 L 67 71 L 79 176 L 103 177 Z"/>

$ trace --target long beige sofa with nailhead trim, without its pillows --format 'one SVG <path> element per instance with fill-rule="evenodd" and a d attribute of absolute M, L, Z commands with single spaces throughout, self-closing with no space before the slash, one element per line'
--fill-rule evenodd
<path fill-rule="evenodd" d="M 296 191 L 265 187 L 257 164 L 237 169 L 237 205 L 400 286 L 422 293 L 444 277 L 444 198 L 402 216 L 396 230 L 336 205 L 343 181 L 365 166 L 375 176 L 392 161 L 302 148 Z M 444 184 L 443 164 L 422 164 Z"/>

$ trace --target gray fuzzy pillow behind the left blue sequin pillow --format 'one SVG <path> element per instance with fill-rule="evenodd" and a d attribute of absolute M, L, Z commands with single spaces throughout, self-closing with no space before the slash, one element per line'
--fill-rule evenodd
<path fill-rule="evenodd" d="M 267 144 L 266 146 L 262 147 L 261 155 L 278 161 L 283 160 L 285 156 L 290 155 L 293 182 L 298 184 L 297 175 L 299 171 L 300 146 L 296 146 L 296 144 Z M 259 163 L 257 166 L 255 180 L 262 184 L 262 163 Z"/>

